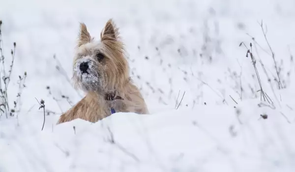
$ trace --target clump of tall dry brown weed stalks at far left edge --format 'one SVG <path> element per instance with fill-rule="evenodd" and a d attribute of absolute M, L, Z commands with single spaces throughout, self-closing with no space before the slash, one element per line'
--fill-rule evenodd
<path fill-rule="evenodd" d="M 24 72 L 23 76 L 19 76 L 18 85 L 19 89 L 17 92 L 16 100 L 13 101 L 13 108 L 10 108 L 9 100 L 8 100 L 8 86 L 10 84 L 11 80 L 11 74 L 12 69 L 14 65 L 14 59 L 16 54 L 16 43 L 13 43 L 13 49 L 10 51 L 11 57 L 7 57 L 9 60 L 11 60 L 11 63 L 9 65 L 9 69 L 5 69 L 5 56 L 4 56 L 4 50 L 3 50 L 3 39 L 2 39 L 2 31 L 1 31 L 2 21 L 0 20 L 0 62 L 2 64 L 0 69 L 0 115 L 2 116 L 5 114 L 6 118 L 8 118 L 8 114 L 10 116 L 14 116 L 16 112 L 20 111 L 20 98 L 22 95 L 23 88 L 26 87 L 25 81 L 27 78 L 27 72 Z"/>

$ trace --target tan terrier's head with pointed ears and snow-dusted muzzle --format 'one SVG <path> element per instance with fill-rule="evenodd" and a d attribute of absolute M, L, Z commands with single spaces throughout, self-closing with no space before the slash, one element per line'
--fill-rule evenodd
<path fill-rule="evenodd" d="M 100 41 L 90 36 L 80 24 L 73 80 L 84 91 L 116 90 L 128 81 L 129 67 L 118 28 L 110 19 L 100 33 Z"/>

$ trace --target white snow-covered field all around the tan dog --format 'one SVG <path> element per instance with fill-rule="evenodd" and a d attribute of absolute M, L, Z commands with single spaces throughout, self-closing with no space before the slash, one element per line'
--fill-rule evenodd
<path fill-rule="evenodd" d="M 6 71 L 16 42 L 0 172 L 295 172 L 294 8 L 294 0 L 0 0 Z M 56 125 L 83 96 L 70 81 L 79 22 L 99 39 L 110 18 L 150 115 Z M 2 61 L 0 70 L 2 78 Z M 42 131 L 36 99 L 45 101 Z"/>

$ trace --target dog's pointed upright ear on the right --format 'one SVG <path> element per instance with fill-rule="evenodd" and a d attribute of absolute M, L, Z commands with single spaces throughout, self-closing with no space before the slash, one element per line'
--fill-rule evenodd
<path fill-rule="evenodd" d="M 100 33 L 100 39 L 101 41 L 104 40 L 117 40 L 118 39 L 118 28 L 116 28 L 115 23 L 113 22 L 112 19 L 110 19 L 104 29 Z"/>

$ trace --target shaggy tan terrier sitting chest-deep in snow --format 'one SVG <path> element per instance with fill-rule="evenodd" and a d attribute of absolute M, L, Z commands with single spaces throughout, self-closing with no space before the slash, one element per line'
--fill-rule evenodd
<path fill-rule="evenodd" d="M 129 76 L 125 54 L 113 19 L 102 29 L 100 41 L 94 41 L 80 23 L 72 80 L 86 95 L 62 114 L 57 124 L 76 118 L 95 123 L 116 112 L 148 114 L 146 102 Z"/>

